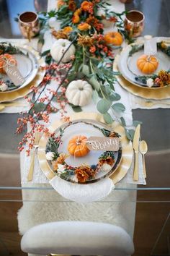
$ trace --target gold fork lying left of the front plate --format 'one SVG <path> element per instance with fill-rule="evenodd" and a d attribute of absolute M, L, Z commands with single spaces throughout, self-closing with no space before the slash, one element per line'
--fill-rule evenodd
<path fill-rule="evenodd" d="M 30 161 L 30 169 L 27 175 L 27 181 L 31 182 L 32 181 L 32 177 L 33 177 L 33 173 L 34 173 L 34 167 L 35 167 L 35 151 L 38 148 L 38 144 L 40 142 L 40 138 L 41 138 L 41 134 L 40 132 L 35 132 L 35 140 L 34 140 L 34 151 L 31 155 L 31 161 Z"/>

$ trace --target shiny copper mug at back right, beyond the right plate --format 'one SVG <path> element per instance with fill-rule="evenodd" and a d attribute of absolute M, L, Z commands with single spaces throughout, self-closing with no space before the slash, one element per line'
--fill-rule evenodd
<path fill-rule="evenodd" d="M 142 12 L 132 10 L 125 16 L 124 27 L 130 38 L 136 38 L 143 32 L 145 16 Z"/>

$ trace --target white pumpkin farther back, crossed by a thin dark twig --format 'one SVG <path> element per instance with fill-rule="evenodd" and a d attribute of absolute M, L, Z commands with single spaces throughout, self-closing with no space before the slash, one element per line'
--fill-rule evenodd
<path fill-rule="evenodd" d="M 59 61 L 61 59 L 61 56 L 63 56 L 63 53 L 66 51 L 68 46 L 70 46 L 71 41 L 67 39 L 58 39 L 53 43 L 53 46 L 50 49 L 50 55 L 55 61 Z M 71 61 L 71 56 L 75 54 L 76 48 L 73 46 L 73 44 L 70 46 L 68 51 L 66 51 L 66 54 L 64 54 L 62 62 L 68 62 Z"/>

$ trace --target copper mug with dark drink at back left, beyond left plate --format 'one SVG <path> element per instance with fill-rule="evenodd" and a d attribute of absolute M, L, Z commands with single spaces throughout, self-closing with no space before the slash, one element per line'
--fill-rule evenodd
<path fill-rule="evenodd" d="M 40 31 L 37 14 L 35 12 L 23 12 L 20 14 L 19 28 L 24 38 L 31 40 Z"/>

